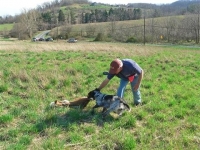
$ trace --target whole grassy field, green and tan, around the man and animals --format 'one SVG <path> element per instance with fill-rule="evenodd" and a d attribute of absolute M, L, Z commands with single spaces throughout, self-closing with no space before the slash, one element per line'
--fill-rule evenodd
<path fill-rule="evenodd" d="M 0 41 L 0 149 L 200 149 L 200 49 L 121 43 Z M 50 108 L 84 97 L 105 78 L 112 59 L 132 58 L 144 70 L 143 105 L 105 121 L 95 102 Z M 114 78 L 102 92 L 115 94 Z"/>

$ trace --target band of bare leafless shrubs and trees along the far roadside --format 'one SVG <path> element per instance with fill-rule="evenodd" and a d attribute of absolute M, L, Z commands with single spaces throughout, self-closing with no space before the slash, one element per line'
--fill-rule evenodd
<path fill-rule="evenodd" d="M 103 34 L 106 37 L 113 38 L 120 42 L 126 42 L 130 38 L 136 39 L 139 43 L 179 43 L 179 44 L 198 44 L 199 43 L 199 22 L 196 25 L 188 25 L 183 22 L 168 22 L 151 24 L 145 22 L 140 25 L 118 24 L 116 22 L 107 23 L 99 26 L 98 24 L 89 24 L 75 30 L 61 30 L 59 34 L 68 34 L 68 36 L 96 37 Z"/>

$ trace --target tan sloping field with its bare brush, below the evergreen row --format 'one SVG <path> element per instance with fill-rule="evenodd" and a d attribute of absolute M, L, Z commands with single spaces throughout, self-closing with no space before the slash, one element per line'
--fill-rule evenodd
<path fill-rule="evenodd" d="M 52 30 L 50 35 L 67 39 L 73 37 L 92 37 L 95 41 L 118 41 L 131 43 L 199 43 L 200 16 L 169 16 L 165 18 L 149 18 L 140 24 L 110 21 L 101 24 L 79 26 L 62 26 L 59 31 Z"/>

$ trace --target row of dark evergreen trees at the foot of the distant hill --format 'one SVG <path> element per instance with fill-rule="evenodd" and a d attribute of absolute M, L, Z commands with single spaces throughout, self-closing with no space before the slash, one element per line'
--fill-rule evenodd
<path fill-rule="evenodd" d="M 84 24 L 94 22 L 108 22 L 108 21 L 125 21 L 138 20 L 142 17 L 142 10 L 139 8 L 110 8 L 110 10 L 95 9 L 94 11 L 82 12 L 76 14 L 73 9 L 67 10 L 66 14 L 63 10 L 59 10 L 58 17 L 52 12 L 41 13 L 40 19 L 43 22 L 51 25 L 54 24 Z M 58 22 L 56 21 L 58 20 Z"/>

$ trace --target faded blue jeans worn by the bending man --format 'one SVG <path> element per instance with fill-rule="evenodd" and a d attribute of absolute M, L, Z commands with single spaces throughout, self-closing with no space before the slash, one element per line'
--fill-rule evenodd
<path fill-rule="evenodd" d="M 135 84 L 137 83 L 138 81 L 138 76 L 136 75 L 134 77 L 134 80 L 133 82 L 131 82 L 131 90 L 132 90 L 132 93 L 133 93 L 133 102 L 135 105 L 139 104 L 142 102 L 141 100 L 141 94 L 140 94 L 140 88 L 138 88 L 136 91 L 134 91 L 133 87 L 135 86 Z M 123 80 L 123 79 L 120 79 L 120 84 L 119 84 L 119 87 L 118 87 L 118 90 L 117 90 L 117 96 L 123 98 L 124 96 L 124 91 L 126 89 L 126 85 L 129 83 L 128 80 Z"/>

